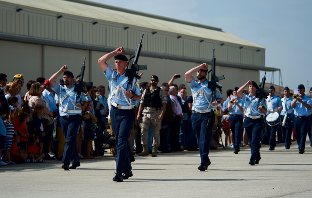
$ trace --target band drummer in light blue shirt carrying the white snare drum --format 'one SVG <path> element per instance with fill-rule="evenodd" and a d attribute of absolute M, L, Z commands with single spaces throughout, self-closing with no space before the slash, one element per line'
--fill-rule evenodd
<path fill-rule="evenodd" d="M 266 114 L 266 117 L 273 112 L 278 112 L 280 113 L 280 111 L 283 109 L 282 107 L 282 101 L 280 99 L 280 97 L 278 97 L 277 95 L 275 95 L 275 88 L 273 85 L 270 86 L 269 90 L 271 90 L 271 92 L 269 93 L 268 98 L 266 99 L 267 102 L 267 107 L 268 107 L 268 113 Z M 265 118 L 266 118 L 265 117 Z M 278 126 L 279 125 L 275 125 L 275 126 L 270 126 L 268 124 L 268 122 L 265 122 L 265 134 L 262 138 L 262 144 L 267 144 L 267 142 L 269 141 L 270 144 L 270 148 L 269 150 L 273 151 L 275 146 L 276 146 L 276 132 L 278 130 Z M 281 136 L 280 136 L 281 138 Z M 278 140 L 279 142 L 282 142 L 283 140 Z"/>

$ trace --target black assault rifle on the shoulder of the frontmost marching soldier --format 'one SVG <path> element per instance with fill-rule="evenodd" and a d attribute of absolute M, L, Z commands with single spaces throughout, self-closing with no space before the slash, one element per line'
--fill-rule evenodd
<path fill-rule="evenodd" d="M 127 85 L 127 89 L 126 90 L 128 90 L 129 85 L 130 85 L 130 90 L 131 90 L 131 85 L 132 85 L 132 81 L 133 81 L 134 77 L 136 77 L 137 79 L 141 79 L 141 76 L 137 75 L 138 71 L 147 69 L 146 65 L 138 65 L 137 64 L 138 57 L 140 55 L 141 48 L 142 48 L 143 36 L 144 36 L 144 34 L 142 34 L 140 43 L 137 44 L 137 49 L 136 49 L 135 54 L 133 56 L 131 56 L 131 58 L 129 59 L 129 62 L 128 62 L 127 71 L 126 71 L 125 76 L 128 76 L 129 81 L 128 81 L 128 85 Z M 131 64 L 131 69 L 128 69 L 128 67 L 130 65 L 130 60 L 131 59 L 133 59 L 132 60 L 132 64 Z"/>

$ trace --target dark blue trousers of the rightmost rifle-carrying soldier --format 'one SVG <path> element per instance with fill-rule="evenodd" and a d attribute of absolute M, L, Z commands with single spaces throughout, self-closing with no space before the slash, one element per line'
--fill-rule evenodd
<path fill-rule="evenodd" d="M 251 119 L 245 117 L 244 126 L 247 133 L 247 138 L 250 144 L 250 150 L 252 156 L 251 160 L 259 160 L 260 159 L 260 140 L 262 133 L 262 122 L 261 118 Z"/>

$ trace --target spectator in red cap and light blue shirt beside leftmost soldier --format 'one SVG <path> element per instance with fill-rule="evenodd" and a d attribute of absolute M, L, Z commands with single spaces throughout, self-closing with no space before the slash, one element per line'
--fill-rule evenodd
<path fill-rule="evenodd" d="M 42 91 L 43 99 L 45 99 L 49 105 L 50 111 L 53 113 L 53 117 L 57 116 L 57 101 L 54 97 L 55 92 L 51 88 L 49 79 L 44 81 L 44 90 Z M 43 153 L 48 153 L 50 157 L 55 157 L 55 154 L 51 150 L 52 136 L 53 136 L 54 125 L 46 125 L 44 131 L 46 135 L 43 138 Z"/>

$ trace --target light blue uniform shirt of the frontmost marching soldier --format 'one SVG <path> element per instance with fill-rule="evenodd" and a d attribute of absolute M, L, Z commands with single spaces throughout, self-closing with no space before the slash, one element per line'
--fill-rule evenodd
<path fill-rule="evenodd" d="M 110 95 L 112 96 L 113 98 L 113 102 L 117 103 L 118 105 L 122 105 L 122 106 L 129 106 L 129 104 L 127 103 L 126 100 L 129 101 L 130 98 L 125 98 L 124 95 L 121 93 L 122 90 L 120 90 L 120 99 L 118 99 L 118 94 L 115 94 L 115 95 L 112 95 L 112 91 L 115 89 L 116 86 L 118 86 L 122 81 L 123 79 L 125 79 L 125 74 L 122 74 L 121 76 L 119 76 L 118 72 L 114 72 L 113 69 L 111 68 L 110 65 L 108 65 L 107 67 L 107 70 L 106 70 L 106 73 L 104 72 L 106 78 L 108 79 L 108 82 L 109 82 L 109 92 L 110 92 Z M 134 90 L 135 94 L 137 95 L 141 95 L 141 91 L 140 89 L 138 88 L 138 85 L 136 85 L 136 82 L 137 82 L 137 78 L 135 77 L 132 81 L 132 87 L 131 89 Z M 123 88 L 124 89 L 127 89 L 127 85 L 128 85 L 128 81 L 123 84 Z M 130 86 L 129 86 L 130 88 Z M 128 90 L 130 90 L 128 88 Z M 127 97 L 127 96 L 126 96 Z M 135 100 L 131 100 L 131 104 L 132 105 L 136 105 L 136 101 Z"/>

